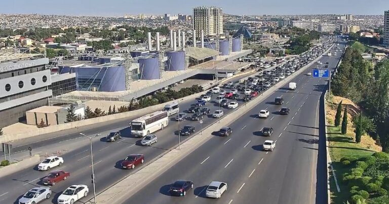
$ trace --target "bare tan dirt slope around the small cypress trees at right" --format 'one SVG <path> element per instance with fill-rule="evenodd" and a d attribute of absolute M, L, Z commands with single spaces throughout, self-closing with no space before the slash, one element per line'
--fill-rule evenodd
<path fill-rule="evenodd" d="M 355 128 L 352 122 L 352 118 L 355 115 L 359 114 L 361 112 L 361 109 L 353 101 L 339 96 L 332 96 L 331 98 L 329 98 L 326 102 L 327 117 L 332 119 L 328 119 L 327 123 L 329 126 L 334 125 L 336 109 L 340 101 L 342 101 L 342 116 L 343 116 L 344 107 L 347 105 L 348 125 L 347 125 L 347 133 L 345 136 L 349 137 L 351 139 L 351 142 L 355 142 L 355 132 L 354 132 Z M 382 151 L 382 147 L 376 145 L 374 139 L 366 134 L 362 136 L 360 145 L 362 148 L 370 149 L 373 151 Z"/>

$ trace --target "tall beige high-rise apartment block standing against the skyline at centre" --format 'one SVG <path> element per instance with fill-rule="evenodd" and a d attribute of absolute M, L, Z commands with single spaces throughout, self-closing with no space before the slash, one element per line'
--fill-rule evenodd
<path fill-rule="evenodd" d="M 223 9 L 217 7 L 197 7 L 193 9 L 193 29 L 197 36 L 204 30 L 205 35 L 223 33 Z"/>

